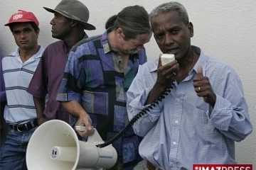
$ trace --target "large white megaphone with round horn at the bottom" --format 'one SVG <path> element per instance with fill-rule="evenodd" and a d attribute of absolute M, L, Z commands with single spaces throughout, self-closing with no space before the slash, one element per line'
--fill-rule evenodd
<path fill-rule="evenodd" d="M 87 142 L 78 140 L 75 130 L 62 120 L 40 125 L 28 142 L 28 170 L 110 169 L 117 162 L 117 151 L 103 140 L 97 130 Z"/>

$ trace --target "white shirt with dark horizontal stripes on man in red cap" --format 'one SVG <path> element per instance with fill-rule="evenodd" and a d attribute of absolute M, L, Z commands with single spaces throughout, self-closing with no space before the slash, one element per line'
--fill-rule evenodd
<path fill-rule="evenodd" d="M 19 50 L 3 58 L 4 83 L 7 105 L 4 119 L 11 125 L 26 123 L 36 118 L 33 96 L 26 91 L 43 54 L 43 47 L 26 62 L 21 61 Z"/>

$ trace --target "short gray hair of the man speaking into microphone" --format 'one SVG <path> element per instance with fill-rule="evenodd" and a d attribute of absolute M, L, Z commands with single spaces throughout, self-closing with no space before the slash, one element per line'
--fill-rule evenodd
<path fill-rule="evenodd" d="M 152 22 L 152 18 L 158 16 L 159 14 L 169 11 L 178 11 L 179 16 L 181 16 L 182 22 L 185 25 L 188 24 L 189 20 L 186 8 L 176 1 L 170 1 L 154 8 L 153 11 L 151 11 L 151 13 L 149 14 L 150 21 Z"/>

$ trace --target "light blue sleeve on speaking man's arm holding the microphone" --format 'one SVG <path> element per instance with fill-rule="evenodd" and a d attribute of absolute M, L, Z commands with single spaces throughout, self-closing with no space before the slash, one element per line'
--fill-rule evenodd
<path fill-rule="evenodd" d="M 132 120 L 139 112 L 149 107 L 149 105 L 144 106 L 144 103 L 146 103 L 146 99 L 153 86 L 154 79 L 149 74 L 149 69 L 146 69 L 146 65 L 140 66 L 137 76 L 127 91 L 127 113 L 129 120 Z M 150 111 L 147 111 L 146 114 L 142 115 L 142 118 L 139 118 L 134 123 L 135 134 L 144 137 L 156 125 L 161 111 L 162 103 L 159 101 Z"/>

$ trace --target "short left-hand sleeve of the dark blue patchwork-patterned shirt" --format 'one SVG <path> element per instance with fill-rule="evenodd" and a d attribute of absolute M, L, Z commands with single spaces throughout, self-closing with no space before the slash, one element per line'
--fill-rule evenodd
<path fill-rule="evenodd" d="M 85 67 L 81 60 L 80 52 L 70 52 L 57 101 L 80 101 L 82 87 L 85 84 Z"/>

